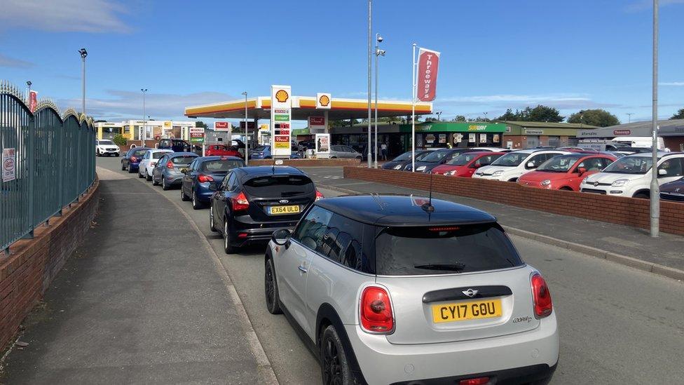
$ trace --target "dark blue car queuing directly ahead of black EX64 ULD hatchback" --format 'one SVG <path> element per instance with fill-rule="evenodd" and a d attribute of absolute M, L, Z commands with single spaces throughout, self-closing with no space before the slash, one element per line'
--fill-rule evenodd
<path fill-rule="evenodd" d="M 196 158 L 184 170 L 181 181 L 181 201 L 192 201 L 193 208 L 199 210 L 209 203 L 233 168 L 244 167 L 245 161 L 237 156 L 203 156 Z M 214 187 L 210 189 L 210 187 Z"/>

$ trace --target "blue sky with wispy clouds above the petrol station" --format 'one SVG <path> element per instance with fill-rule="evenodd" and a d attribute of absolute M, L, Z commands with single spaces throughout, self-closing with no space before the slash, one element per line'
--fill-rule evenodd
<path fill-rule="evenodd" d="M 684 0 L 660 1 L 659 118 L 684 107 Z M 188 120 L 184 107 L 268 96 L 367 97 L 368 3 L 0 0 L 0 79 L 95 119 Z M 373 1 L 379 98 L 411 100 L 411 44 L 438 50 L 442 119 L 545 104 L 651 119 L 651 0 Z M 212 119 L 200 119 L 212 122 Z"/>

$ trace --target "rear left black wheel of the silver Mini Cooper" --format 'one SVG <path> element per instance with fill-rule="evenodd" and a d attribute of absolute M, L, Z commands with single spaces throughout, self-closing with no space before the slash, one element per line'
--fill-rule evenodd
<path fill-rule="evenodd" d="M 333 325 L 328 325 L 321 334 L 319 354 L 324 385 L 354 384 L 351 365 L 349 365 L 342 340 Z"/>

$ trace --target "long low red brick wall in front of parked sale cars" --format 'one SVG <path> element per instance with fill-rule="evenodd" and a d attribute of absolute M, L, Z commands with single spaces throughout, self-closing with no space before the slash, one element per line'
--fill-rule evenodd
<path fill-rule="evenodd" d="M 404 171 L 345 167 L 344 177 L 413 189 L 430 188 L 430 175 Z M 646 199 L 534 189 L 511 182 L 444 175 L 432 175 L 432 191 L 643 229 L 650 227 Z M 684 203 L 661 201 L 660 230 L 684 235 Z"/>

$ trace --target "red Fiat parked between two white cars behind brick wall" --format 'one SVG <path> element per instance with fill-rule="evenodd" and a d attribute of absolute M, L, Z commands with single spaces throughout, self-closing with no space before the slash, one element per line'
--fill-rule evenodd
<path fill-rule="evenodd" d="M 518 178 L 518 184 L 538 189 L 580 191 L 585 177 L 598 173 L 617 157 L 608 154 L 569 154 L 550 158 L 531 173 Z"/>

